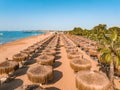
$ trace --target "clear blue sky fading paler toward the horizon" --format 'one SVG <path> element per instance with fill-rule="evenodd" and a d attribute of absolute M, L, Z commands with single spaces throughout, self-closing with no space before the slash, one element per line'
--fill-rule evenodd
<path fill-rule="evenodd" d="M 0 30 L 120 26 L 120 0 L 0 0 Z"/>

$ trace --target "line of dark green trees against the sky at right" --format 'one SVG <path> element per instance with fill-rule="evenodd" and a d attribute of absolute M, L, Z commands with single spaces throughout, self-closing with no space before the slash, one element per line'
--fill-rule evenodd
<path fill-rule="evenodd" d="M 118 35 L 120 35 L 120 27 L 110 27 L 107 29 L 106 24 L 99 24 L 93 27 L 91 30 L 82 29 L 81 27 L 75 27 L 73 30 L 70 30 L 66 33 L 90 37 L 92 34 L 110 34 L 112 31 L 116 31 Z"/>

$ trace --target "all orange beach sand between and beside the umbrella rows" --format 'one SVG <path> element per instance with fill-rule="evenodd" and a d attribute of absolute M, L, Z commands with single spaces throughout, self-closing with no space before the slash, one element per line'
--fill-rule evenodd
<path fill-rule="evenodd" d="M 5 60 L 5 58 L 12 59 L 14 54 L 17 54 L 19 51 L 39 42 L 40 40 L 50 36 L 51 34 L 43 34 L 39 36 L 32 36 L 24 39 L 20 39 L 14 42 L 10 42 L 0 46 L 0 63 Z M 47 90 L 77 90 L 75 85 L 75 76 L 76 73 L 70 67 L 70 60 L 67 58 L 67 52 L 64 47 L 64 43 L 60 40 L 61 47 L 58 48 L 57 54 L 55 57 L 55 63 L 53 64 L 53 79 L 48 82 L 48 84 L 43 85 L 44 88 Z M 80 50 L 80 49 L 79 49 Z M 98 70 L 97 61 L 93 60 L 85 54 L 84 57 L 89 59 L 92 63 L 92 70 Z M 31 64 L 29 67 L 32 67 Z M 33 84 L 29 81 L 26 72 L 29 67 L 18 69 L 16 71 L 17 77 L 15 80 L 4 84 L 0 87 L 0 90 L 14 90 L 21 85 L 29 85 Z M 117 80 L 116 82 L 117 87 L 120 87 L 120 83 Z"/>

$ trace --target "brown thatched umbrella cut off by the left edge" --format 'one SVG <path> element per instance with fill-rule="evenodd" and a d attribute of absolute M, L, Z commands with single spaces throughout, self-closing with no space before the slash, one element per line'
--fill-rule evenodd
<path fill-rule="evenodd" d="M 8 74 L 9 72 L 16 70 L 17 68 L 19 68 L 19 64 L 17 62 L 6 60 L 0 63 L 0 74 Z"/>

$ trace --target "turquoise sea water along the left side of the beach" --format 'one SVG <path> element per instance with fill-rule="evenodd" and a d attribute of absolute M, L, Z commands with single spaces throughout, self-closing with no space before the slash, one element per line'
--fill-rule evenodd
<path fill-rule="evenodd" d="M 44 32 L 0 31 L 0 44 L 39 34 Z"/>

